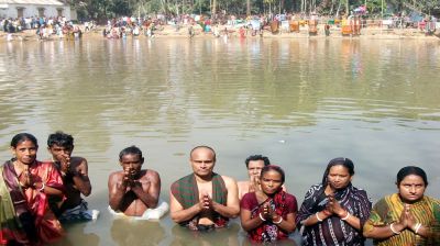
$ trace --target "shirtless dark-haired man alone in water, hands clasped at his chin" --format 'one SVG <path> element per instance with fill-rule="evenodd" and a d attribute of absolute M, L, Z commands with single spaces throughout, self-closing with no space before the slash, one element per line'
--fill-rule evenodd
<path fill-rule="evenodd" d="M 131 146 L 119 154 L 122 171 L 109 176 L 109 205 L 128 216 L 143 216 L 147 209 L 157 206 L 161 178 L 152 169 L 141 169 L 144 157 L 141 149 Z"/>

